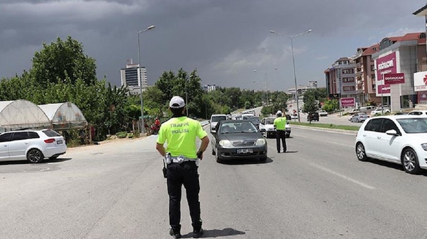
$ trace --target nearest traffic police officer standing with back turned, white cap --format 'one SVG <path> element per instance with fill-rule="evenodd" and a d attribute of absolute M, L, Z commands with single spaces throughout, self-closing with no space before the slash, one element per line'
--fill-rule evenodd
<path fill-rule="evenodd" d="M 181 238 L 180 202 L 181 187 L 184 185 L 193 226 L 193 237 L 197 238 L 203 234 L 197 165 L 198 160 L 203 159 L 203 152 L 209 144 L 209 139 L 200 122 L 184 115 L 184 99 L 179 96 L 172 97 L 169 109 L 173 116 L 160 127 L 156 144 L 157 151 L 165 157 L 167 167 L 169 224 L 171 226 L 169 233 L 174 238 Z M 197 151 L 196 137 L 202 141 Z M 164 143 L 167 143 L 166 148 L 163 146 Z"/>

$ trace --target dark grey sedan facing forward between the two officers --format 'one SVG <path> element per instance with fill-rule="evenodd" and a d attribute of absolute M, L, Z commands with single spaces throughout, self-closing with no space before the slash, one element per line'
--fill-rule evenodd
<path fill-rule="evenodd" d="M 250 121 L 221 121 L 212 138 L 217 162 L 230 159 L 267 159 L 267 141 Z"/>

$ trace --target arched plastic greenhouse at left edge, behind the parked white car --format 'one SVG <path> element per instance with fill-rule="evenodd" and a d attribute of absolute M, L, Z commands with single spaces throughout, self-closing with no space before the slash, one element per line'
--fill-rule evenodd
<path fill-rule="evenodd" d="M 27 100 L 0 101 L 0 132 L 49 127 L 45 112 Z"/>

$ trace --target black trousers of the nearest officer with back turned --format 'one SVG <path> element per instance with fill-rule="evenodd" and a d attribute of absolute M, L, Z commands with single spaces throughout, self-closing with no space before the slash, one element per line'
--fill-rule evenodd
<path fill-rule="evenodd" d="M 171 163 L 167 166 L 167 184 L 169 194 L 169 224 L 174 231 L 179 231 L 181 225 L 181 187 L 184 185 L 187 193 L 187 201 L 193 229 L 200 230 L 202 220 L 200 219 L 199 202 L 199 173 L 196 163 L 186 161 L 182 163 Z"/>

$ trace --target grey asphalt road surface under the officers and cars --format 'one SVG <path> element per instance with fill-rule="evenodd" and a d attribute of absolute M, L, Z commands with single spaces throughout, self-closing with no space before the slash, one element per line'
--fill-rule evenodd
<path fill-rule="evenodd" d="M 425 238 L 427 173 L 359 162 L 354 135 L 292 129 L 265 163 L 200 163 L 205 237 Z M 0 163 L 0 238 L 171 238 L 156 136 Z M 185 195 L 185 194 L 183 194 Z M 184 238 L 192 236 L 185 197 Z"/>

